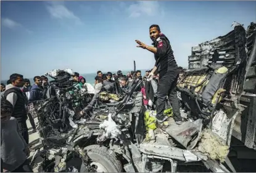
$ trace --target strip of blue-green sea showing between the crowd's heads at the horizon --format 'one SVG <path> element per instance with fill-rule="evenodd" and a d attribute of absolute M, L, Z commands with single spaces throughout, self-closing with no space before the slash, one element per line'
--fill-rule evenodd
<path fill-rule="evenodd" d="M 122 70 L 122 73 L 125 75 L 126 73 L 130 72 L 132 70 Z M 117 71 L 110 71 L 111 73 L 117 73 Z M 102 71 L 102 73 L 107 73 Z M 141 75 L 144 76 L 146 73 L 146 70 L 141 70 Z M 43 75 L 43 74 L 41 74 Z M 85 73 L 85 74 L 80 74 L 80 76 L 83 76 L 86 79 L 86 82 L 88 82 L 89 84 L 94 85 L 94 81 L 95 81 L 95 77 L 96 77 L 96 73 Z M 47 76 L 48 80 L 51 81 L 53 80 L 51 77 Z M 23 78 L 27 78 L 26 76 L 23 76 Z M 28 78 L 30 79 L 31 85 L 33 84 L 33 78 Z M 6 84 L 7 80 L 1 80 L 1 83 Z"/>

